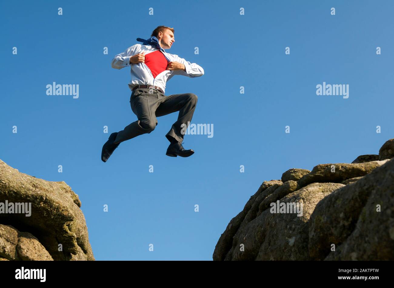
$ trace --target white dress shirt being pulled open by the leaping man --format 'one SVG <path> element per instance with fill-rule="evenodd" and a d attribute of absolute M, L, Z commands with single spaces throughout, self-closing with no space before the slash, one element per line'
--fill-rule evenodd
<path fill-rule="evenodd" d="M 131 67 L 131 80 L 128 83 L 128 87 L 130 90 L 137 85 L 153 85 L 160 87 L 163 92 L 165 92 L 165 83 L 171 79 L 174 75 L 183 75 L 188 76 L 190 78 L 199 77 L 204 75 L 204 70 L 201 66 L 196 63 L 190 63 L 183 58 L 180 58 L 178 55 L 169 54 L 167 52 L 163 52 L 167 61 L 176 61 L 178 63 L 182 63 L 185 65 L 186 72 L 183 70 L 164 70 L 160 74 L 153 78 L 151 70 L 145 63 L 130 63 L 130 57 L 145 52 L 145 55 L 159 50 L 157 47 L 143 44 L 135 44 L 125 50 L 125 52 L 121 54 L 115 55 L 112 59 L 111 66 L 115 69 L 121 69 L 126 66 Z M 160 50 L 161 51 L 161 50 Z"/>

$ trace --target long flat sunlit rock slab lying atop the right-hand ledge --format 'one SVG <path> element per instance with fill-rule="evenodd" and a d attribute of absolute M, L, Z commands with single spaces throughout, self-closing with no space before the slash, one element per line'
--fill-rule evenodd
<path fill-rule="evenodd" d="M 298 185 L 304 187 L 310 183 L 340 183 L 346 179 L 364 176 L 375 168 L 383 165 L 384 161 L 371 161 L 365 163 L 336 163 L 319 164 L 314 166 L 312 172 L 298 180 Z M 335 167 L 335 172 L 331 172 Z"/>

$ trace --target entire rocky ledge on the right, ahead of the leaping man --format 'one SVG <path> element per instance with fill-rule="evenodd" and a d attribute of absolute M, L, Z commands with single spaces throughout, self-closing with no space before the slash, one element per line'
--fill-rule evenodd
<path fill-rule="evenodd" d="M 264 181 L 213 260 L 394 260 L 394 139 L 352 163 Z"/>

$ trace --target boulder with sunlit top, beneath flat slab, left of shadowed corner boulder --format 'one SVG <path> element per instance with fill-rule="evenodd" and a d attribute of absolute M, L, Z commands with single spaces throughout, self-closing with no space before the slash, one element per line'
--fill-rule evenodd
<path fill-rule="evenodd" d="M 264 210 L 240 227 L 225 260 L 308 260 L 310 214 L 320 199 L 342 186 L 339 183 L 312 183 L 280 199 L 284 203 L 303 203 L 302 216 L 271 213 L 270 208 Z M 241 245 L 245 251 L 240 251 Z"/>

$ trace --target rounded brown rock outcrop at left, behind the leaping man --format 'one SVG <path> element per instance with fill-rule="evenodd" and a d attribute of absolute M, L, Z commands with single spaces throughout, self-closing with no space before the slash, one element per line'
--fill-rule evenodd
<path fill-rule="evenodd" d="M 54 260 L 95 260 L 81 202 L 65 182 L 45 181 L 20 173 L 0 160 L 0 199 L 31 204 L 28 217 L 21 213 L 0 214 L 0 223 L 28 233 L 18 236 L 16 252 L 21 260 L 37 259 L 38 255 Z M 15 238 L 8 239 L 9 248 L 9 243 L 15 244 Z M 63 251 L 58 251 L 59 244 Z M 49 256 L 41 254 L 41 246 Z M 15 256 L 9 259 L 17 260 Z"/>

